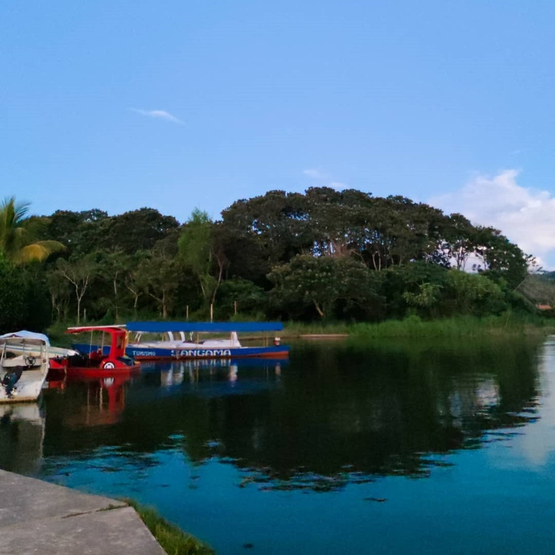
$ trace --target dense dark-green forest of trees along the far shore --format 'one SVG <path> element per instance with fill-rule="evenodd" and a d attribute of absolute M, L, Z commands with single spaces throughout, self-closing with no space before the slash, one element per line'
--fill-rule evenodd
<path fill-rule="evenodd" d="M 402 196 L 274 190 L 212 221 L 0 206 L 0 329 L 133 318 L 381 321 L 533 311 L 533 258 Z M 467 271 L 464 271 L 467 270 Z"/>

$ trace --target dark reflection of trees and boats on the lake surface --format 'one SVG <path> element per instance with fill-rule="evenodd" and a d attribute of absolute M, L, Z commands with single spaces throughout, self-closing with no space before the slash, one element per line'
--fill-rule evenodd
<path fill-rule="evenodd" d="M 506 428 L 534 421 L 537 356 L 529 343 L 311 344 L 297 346 L 289 365 L 150 363 L 137 379 L 48 398 L 46 450 L 109 446 L 133 460 L 171 449 L 195 464 L 233 464 L 241 485 L 263 488 L 428 476 L 446 464 L 438 455 L 502 441 L 515 433 Z"/>

